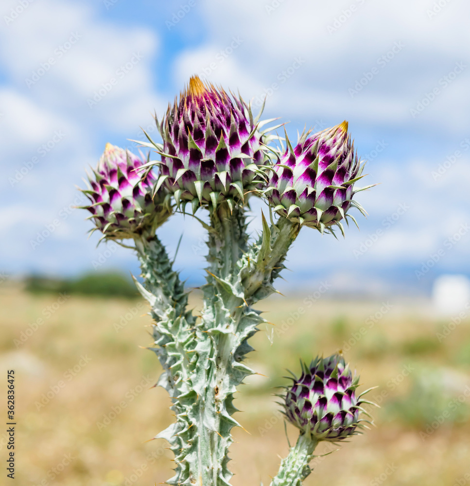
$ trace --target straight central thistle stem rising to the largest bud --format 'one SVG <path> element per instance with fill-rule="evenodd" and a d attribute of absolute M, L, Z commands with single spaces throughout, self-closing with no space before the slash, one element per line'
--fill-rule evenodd
<path fill-rule="evenodd" d="M 230 416 L 232 395 L 250 372 L 234 367 L 235 352 L 244 339 L 239 324 L 243 317 L 244 301 L 230 291 L 238 276 L 237 264 L 246 251 L 244 208 L 230 210 L 227 203 L 211 210 L 209 232 L 209 276 L 204 288 L 204 311 L 201 322 L 200 343 L 207 359 L 206 373 L 201 376 L 205 390 L 198 406 L 201 410 L 198 442 L 205 457 L 204 468 L 194 470 L 203 486 L 226 485 L 231 477 L 227 469 L 227 451 L 232 443 L 230 429 L 237 422 Z M 228 290 L 227 290 L 228 289 Z M 243 366 L 243 365 L 242 365 Z"/>

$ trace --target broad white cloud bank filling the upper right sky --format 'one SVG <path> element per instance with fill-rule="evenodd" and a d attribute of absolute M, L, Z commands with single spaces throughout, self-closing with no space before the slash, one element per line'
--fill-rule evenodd
<path fill-rule="evenodd" d="M 343 11 L 351 4 L 357 8 L 345 16 Z M 458 129 L 470 108 L 466 92 L 470 68 L 448 87 L 439 85 L 439 80 L 455 62 L 469 60 L 465 46 L 470 43 L 466 25 L 470 6 L 449 3 L 430 18 L 427 11 L 433 5 L 430 0 L 393 4 L 348 0 L 339 5 L 308 0 L 206 0 L 208 41 L 180 55 L 176 77 L 181 83 L 192 72 L 201 72 L 232 38 L 240 38 L 240 47 L 216 65 L 210 80 L 236 83 L 242 93 L 255 96 L 277 83 L 268 106 L 282 109 L 286 117 L 315 112 L 389 125 L 435 124 L 446 118 L 444 130 Z M 336 30 L 330 33 L 333 25 Z M 396 43 L 401 48 L 392 52 L 393 58 L 378 64 Z M 280 73 L 296 57 L 305 64 L 285 81 Z M 377 69 L 373 79 L 351 97 L 348 89 L 373 68 Z M 441 93 L 418 119 L 412 118 L 410 109 L 434 87 L 440 87 Z"/>

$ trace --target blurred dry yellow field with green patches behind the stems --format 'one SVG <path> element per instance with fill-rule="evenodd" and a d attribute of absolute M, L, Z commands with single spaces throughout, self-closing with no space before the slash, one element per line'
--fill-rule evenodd
<path fill-rule="evenodd" d="M 193 295 L 197 305 L 197 295 Z M 152 388 L 159 375 L 140 300 L 31 295 L 0 286 L 1 389 L 15 368 L 17 485 L 154 485 L 171 476 L 171 453 L 151 440 L 172 416 L 170 400 Z M 250 377 L 235 405 L 234 486 L 269 484 L 287 442 L 273 386 L 285 368 L 345 350 L 369 399 L 376 428 L 314 461 L 306 485 L 460 486 L 470 483 L 470 322 L 436 332 L 450 318 L 425 301 L 312 303 L 276 296 L 262 302 L 275 326 L 252 340 Z M 382 309 L 382 310 L 381 310 Z M 42 318 L 41 322 L 37 321 Z M 23 333 L 23 334 L 22 334 Z M 17 341 L 14 341 L 17 340 Z M 271 341 L 272 340 L 272 345 Z M 348 344 L 349 343 L 349 344 Z M 5 396 L 5 395 L 3 395 Z M 6 399 L 1 400 L 6 417 Z M 441 423 L 442 422 L 442 423 Z M 287 427 L 291 441 L 296 430 Z M 6 448 L 0 432 L 0 456 Z M 322 444 L 318 452 L 333 449 Z M 469 476 L 470 477 L 470 476 Z M 462 481 L 465 481 L 462 483 Z"/>

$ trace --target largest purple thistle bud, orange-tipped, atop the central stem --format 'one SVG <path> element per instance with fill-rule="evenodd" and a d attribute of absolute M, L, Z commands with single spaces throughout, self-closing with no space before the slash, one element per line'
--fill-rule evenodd
<path fill-rule="evenodd" d="M 241 98 L 191 77 L 179 102 L 169 106 L 160 125 L 163 138 L 158 186 L 174 193 L 176 204 L 192 210 L 226 200 L 243 203 L 261 188 L 264 164 L 261 133 Z"/>

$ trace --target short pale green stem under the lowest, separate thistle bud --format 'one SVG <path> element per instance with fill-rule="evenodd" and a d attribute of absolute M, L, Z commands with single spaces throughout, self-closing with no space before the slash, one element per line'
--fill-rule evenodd
<path fill-rule="evenodd" d="M 301 486 L 302 481 L 312 472 L 309 463 L 313 458 L 318 441 L 307 434 L 300 434 L 297 443 L 282 459 L 279 472 L 271 486 Z"/>

